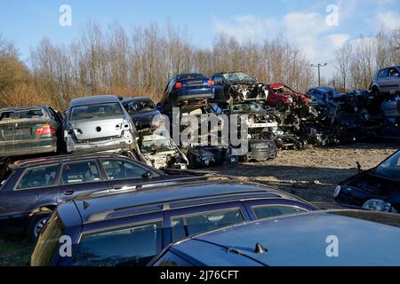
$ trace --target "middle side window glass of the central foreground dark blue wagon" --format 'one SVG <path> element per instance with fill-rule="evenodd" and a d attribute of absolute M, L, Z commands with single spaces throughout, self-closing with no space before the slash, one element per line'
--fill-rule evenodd
<path fill-rule="evenodd" d="M 229 225 L 244 222 L 240 209 L 225 209 L 172 217 L 172 242 L 186 239 L 188 236 L 212 231 Z"/>

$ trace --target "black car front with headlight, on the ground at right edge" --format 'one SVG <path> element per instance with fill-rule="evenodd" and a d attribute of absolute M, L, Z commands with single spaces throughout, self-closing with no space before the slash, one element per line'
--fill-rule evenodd
<path fill-rule="evenodd" d="M 400 151 L 380 165 L 340 183 L 335 201 L 363 209 L 398 212 L 400 210 Z"/>

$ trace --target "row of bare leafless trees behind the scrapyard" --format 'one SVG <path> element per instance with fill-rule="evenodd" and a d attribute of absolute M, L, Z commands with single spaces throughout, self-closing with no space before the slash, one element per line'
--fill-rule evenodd
<path fill-rule="evenodd" d="M 384 32 L 374 38 L 360 41 L 359 51 L 348 45 L 337 51 L 338 73 L 330 83 L 366 88 L 376 67 L 398 62 L 398 55 L 388 52 L 396 38 Z M 239 43 L 220 35 L 211 48 L 200 48 L 185 28 L 174 28 L 169 21 L 129 34 L 117 23 L 103 30 L 88 21 L 82 35 L 68 45 L 44 38 L 26 62 L 14 44 L 0 37 L 0 106 L 45 104 L 63 110 L 70 99 L 91 94 L 145 95 L 158 101 L 174 75 L 233 70 L 299 91 L 307 91 L 315 80 L 308 59 L 284 36 Z"/>

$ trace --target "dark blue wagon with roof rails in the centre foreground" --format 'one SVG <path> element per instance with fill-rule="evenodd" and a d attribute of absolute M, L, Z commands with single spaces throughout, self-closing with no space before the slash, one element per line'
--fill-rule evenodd
<path fill-rule="evenodd" d="M 213 177 L 130 193 L 92 193 L 59 205 L 31 256 L 32 265 L 142 266 L 188 236 L 317 208 L 265 185 Z M 72 256 L 61 256 L 62 236 Z"/>

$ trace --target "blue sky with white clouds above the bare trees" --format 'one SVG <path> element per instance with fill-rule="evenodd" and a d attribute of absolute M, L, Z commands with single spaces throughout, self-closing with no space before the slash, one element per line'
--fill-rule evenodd
<path fill-rule="evenodd" d="M 186 27 L 193 43 L 212 45 L 214 36 L 225 33 L 240 41 L 274 38 L 277 34 L 299 46 L 308 59 L 332 63 L 333 51 L 361 34 L 372 36 L 380 27 L 400 27 L 400 0 L 19 0 L 0 1 L 0 34 L 16 43 L 21 59 L 44 36 L 52 43 L 68 44 L 80 35 L 88 19 L 102 27 L 118 21 L 129 32 L 150 22 L 163 25 L 171 18 L 174 27 Z M 60 27 L 59 8 L 72 8 L 72 27 Z M 326 24 L 326 7 L 338 7 L 337 26 Z"/>

